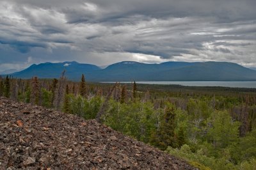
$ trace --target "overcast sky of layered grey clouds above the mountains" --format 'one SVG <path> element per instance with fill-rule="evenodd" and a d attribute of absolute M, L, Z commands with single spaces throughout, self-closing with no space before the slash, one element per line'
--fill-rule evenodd
<path fill-rule="evenodd" d="M 255 0 L 1 0 L 0 71 L 78 61 L 256 66 Z"/>

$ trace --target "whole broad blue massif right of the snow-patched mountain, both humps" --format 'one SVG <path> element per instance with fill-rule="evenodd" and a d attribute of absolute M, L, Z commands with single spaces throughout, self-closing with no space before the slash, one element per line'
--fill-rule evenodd
<path fill-rule="evenodd" d="M 92 81 L 256 81 L 256 72 L 227 62 L 116 63 L 87 75 Z"/>

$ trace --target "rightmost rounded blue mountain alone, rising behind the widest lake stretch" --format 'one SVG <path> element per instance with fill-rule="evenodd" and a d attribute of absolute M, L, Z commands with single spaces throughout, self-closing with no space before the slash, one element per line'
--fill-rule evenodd
<path fill-rule="evenodd" d="M 163 81 L 255 81 L 256 72 L 227 62 L 205 62 L 157 73 Z"/>

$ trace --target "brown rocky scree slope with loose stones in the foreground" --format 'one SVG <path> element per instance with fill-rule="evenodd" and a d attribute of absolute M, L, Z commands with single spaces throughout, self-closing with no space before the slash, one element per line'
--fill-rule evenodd
<path fill-rule="evenodd" d="M 0 98 L 0 169 L 195 169 L 95 120 Z"/>

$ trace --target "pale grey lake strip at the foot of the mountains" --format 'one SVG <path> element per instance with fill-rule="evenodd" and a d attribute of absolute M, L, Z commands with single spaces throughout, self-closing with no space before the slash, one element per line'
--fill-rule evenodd
<path fill-rule="evenodd" d="M 111 82 L 113 83 L 113 82 Z M 121 82 L 131 83 L 131 82 Z M 229 88 L 256 88 L 256 81 L 136 81 L 137 84 L 179 84 L 182 86 L 220 86 Z"/>

